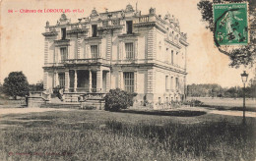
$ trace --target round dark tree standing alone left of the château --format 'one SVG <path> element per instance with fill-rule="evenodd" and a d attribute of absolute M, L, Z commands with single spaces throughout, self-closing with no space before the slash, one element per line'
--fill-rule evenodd
<path fill-rule="evenodd" d="M 23 72 L 12 72 L 4 80 L 3 90 L 7 95 L 17 99 L 17 96 L 29 94 L 29 82 Z"/>

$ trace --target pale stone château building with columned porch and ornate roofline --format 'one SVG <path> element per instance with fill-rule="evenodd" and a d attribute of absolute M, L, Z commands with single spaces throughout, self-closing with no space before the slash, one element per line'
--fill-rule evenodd
<path fill-rule="evenodd" d="M 178 20 L 125 10 L 97 13 L 71 23 L 65 14 L 46 23 L 43 86 L 64 94 L 106 93 L 121 88 L 138 93 L 136 103 L 185 98 L 186 34 Z M 147 102 L 147 103 L 145 103 Z"/>

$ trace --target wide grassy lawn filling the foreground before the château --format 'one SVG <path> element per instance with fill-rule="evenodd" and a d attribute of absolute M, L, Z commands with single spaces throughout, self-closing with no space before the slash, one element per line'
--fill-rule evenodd
<path fill-rule="evenodd" d="M 94 110 L 5 115 L 0 160 L 255 160 L 255 119 L 246 121 Z"/>

